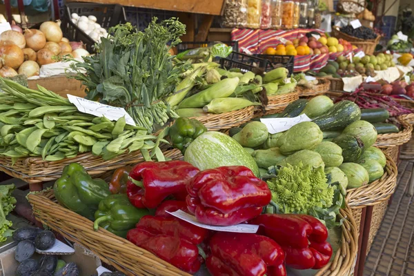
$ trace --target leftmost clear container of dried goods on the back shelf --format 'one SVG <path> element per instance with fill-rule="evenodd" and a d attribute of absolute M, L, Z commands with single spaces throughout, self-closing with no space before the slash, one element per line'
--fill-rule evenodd
<path fill-rule="evenodd" d="M 222 23 L 228 28 L 246 28 L 247 0 L 226 0 Z"/>

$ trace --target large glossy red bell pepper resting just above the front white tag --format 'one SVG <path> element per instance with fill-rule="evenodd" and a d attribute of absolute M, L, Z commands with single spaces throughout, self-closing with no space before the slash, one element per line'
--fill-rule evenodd
<path fill-rule="evenodd" d="M 197 173 L 187 185 L 187 207 L 204 224 L 231 226 L 257 217 L 269 204 L 266 182 L 244 166 Z"/>

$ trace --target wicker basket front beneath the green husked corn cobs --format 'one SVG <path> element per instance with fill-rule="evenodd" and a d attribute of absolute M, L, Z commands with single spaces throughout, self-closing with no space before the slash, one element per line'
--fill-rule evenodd
<path fill-rule="evenodd" d="M 253 118 L 255 114 L 255 106 L 248 106 L 239 110 L 234 110 L 231 112 L 221 113 L 221 114 L 208 114 L 201 117 L 193 117 L 201 121 L 201 123 L 206 126 L 210 131 L 219 131 L 233 128 L 235 126 L 240 126 L 250 119 Z"/>

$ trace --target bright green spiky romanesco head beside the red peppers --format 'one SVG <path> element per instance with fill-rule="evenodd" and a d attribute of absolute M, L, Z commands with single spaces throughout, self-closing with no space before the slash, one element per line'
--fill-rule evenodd
<path fill-rule="evenodd" d="M 273 202 L 282 213 L 308 214 L 312 208 L 333 204 L 335 187 L 327 183 L 324 168 L 311 168 L 302 162 L 277 169 L 277 177 L 268 181 Z"/>

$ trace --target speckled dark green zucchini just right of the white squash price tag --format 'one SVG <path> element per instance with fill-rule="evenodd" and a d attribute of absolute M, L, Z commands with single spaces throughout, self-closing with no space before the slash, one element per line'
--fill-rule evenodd
<path fill-rule="evenodd" d="M 361 119 L 361 110 L 353 101 L 339 101 L 324 115 L 313 120 L 322 131 L 342 130 Z"/>

